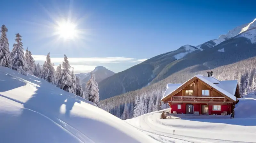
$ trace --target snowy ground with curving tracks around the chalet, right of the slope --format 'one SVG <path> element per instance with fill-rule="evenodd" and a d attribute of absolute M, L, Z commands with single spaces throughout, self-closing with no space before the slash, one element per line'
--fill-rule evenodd
<path fill-rule="evenodd" d="M 255 109 L 256 100 L 245 98 L 236 104 L 233 119 L 227 116 L 193 115 L 172 115 L 177 118 L 160 119 L 162 110 L 125 121 L 161 142 L 255 143 Z"/>

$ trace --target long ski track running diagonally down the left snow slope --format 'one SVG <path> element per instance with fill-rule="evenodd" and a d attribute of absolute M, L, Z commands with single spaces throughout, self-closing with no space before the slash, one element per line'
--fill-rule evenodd
<path fill-rule="evenodd" d="M 19 100 L 4 96 L 2 94 L 0 94 L 1 97 L 4 97 L 6 99 L 9 99 L 13 102 L 17 102 L 20 103 L 22 105 L 26 105 L 26 103 L 21 102 Z M 12 104 L 11 102 L 9 102 L 10 104 Z M 28 105 L 29 106 L 29 105 Z M 65 123 L 64 121 L 60 120 L 59 118 L 50 118 L 48 116 L 46 116 L 43 113 L 40 113 L 34 109 L 32 109 L 31 107 L 29 108 L 24 108 L 23 109 L 27 109 L 30 110 L 32 112 L 35 112 L 41 116 L 43 116 L 44 118 L 50 120 L 52 123 L 54 123 L 55 125 L 57 125 L 58 127 L 60 127 L 61 129 L 63 129 L 64 131 L 66 131 L 68 134 L 70 134 L 72 137 L 76 138 L 77 140 L 79 140 L 81 143 L 86 142 L 86 143 L 94 143 L 94 141 L 92 141 L 90 138 L 88 138 L 86 135 L 84 135 L 82 132 L 78 131 L 76 128 L 72 127 L 71 125 Z"/>

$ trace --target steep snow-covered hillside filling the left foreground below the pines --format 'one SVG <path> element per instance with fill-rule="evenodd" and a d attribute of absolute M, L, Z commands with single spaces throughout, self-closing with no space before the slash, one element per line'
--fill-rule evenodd
<path fill-rule="evenodd" d="M 157 142 L 43 79 L 0 67 L 0 142 Z"/>

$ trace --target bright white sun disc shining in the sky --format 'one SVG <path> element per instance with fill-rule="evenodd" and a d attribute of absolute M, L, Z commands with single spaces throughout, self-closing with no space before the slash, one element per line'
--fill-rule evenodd
<path fill-rule="evenodd" d="M 76 25 L 67 21 L 58 22 L 56 34 L 65 40 L 74 39 L 78 35 Z"/>

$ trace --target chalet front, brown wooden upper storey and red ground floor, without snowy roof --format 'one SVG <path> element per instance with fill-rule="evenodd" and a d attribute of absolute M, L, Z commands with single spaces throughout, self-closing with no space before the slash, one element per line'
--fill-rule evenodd
<path fill-rule="evenodd" d="M 219 84 L 219 83 L 214 83 Z M 236 97 L 240 97 L 239 88 L 236 87 Z M 237 102 L 215 88 L 212 88 L 197 77 L 188 80 L 171 94 L 162 99 L 168 102 L 172 113 L 221 115 L 231 114 Z"/>

